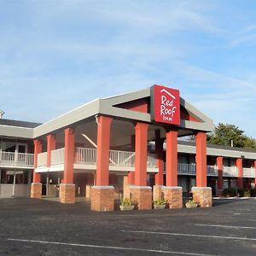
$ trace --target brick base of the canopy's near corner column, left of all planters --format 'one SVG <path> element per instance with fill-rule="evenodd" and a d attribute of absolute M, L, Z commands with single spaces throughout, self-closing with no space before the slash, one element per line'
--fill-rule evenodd
<path fill-rule="evenodd" d="M 91 206 L 92 211 L 106 212 L 113 211 L 114 198 L 113 186 L 93 186 L 91 188 Z"/>

